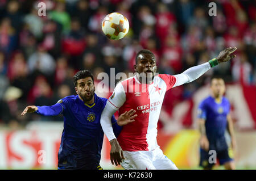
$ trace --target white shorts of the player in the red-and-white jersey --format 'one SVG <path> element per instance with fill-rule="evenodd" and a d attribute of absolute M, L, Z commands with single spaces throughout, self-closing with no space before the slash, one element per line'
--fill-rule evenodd
<path fill-rule="evenodd" d="M 126 170 L 177 170 L 158 147 L 151 151 L 123 151 L 121 166 Z"/>

